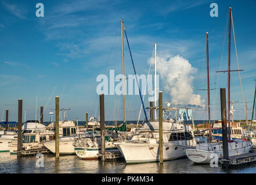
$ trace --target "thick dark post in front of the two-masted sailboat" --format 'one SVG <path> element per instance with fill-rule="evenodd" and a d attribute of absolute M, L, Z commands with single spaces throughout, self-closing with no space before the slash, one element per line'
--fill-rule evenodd
<path fill-rule="evenodd" d="M 226 89 L 221 88 L 221 124 L 222 124 L 222 146 L 223 146 L 223 165 L 222 168 L 229 167 L 229 150 L 228 150 L 228 128 L 226 125 Z"/>

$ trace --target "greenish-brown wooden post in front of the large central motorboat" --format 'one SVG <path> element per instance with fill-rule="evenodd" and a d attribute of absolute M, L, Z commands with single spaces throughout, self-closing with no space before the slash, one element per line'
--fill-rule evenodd
<path fill-rule="evenodd" d="M 163 164 L 163 92 L 159 91 L 159 160 Z"/>

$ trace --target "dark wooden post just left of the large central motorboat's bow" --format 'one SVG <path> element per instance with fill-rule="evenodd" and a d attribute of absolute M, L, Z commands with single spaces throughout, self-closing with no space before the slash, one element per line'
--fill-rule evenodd
<path fill-rule="evenodd" d="M 104 94 L 100 94 L 100 154 L 102 161 L 105 161 L 105 115 L 104 115 Z"/>

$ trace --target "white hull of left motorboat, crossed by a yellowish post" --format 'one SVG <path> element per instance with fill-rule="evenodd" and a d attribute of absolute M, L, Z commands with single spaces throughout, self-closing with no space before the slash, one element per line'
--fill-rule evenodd
<path fill-rule="evenodd" d="M 74 145 L 74 140 L 60 140 L 60 154 L 75 154 Z M 52 153 L 55 153 L 55 140 L 51 142 L 45 142 L 44 146 L 51 150 Z"/>

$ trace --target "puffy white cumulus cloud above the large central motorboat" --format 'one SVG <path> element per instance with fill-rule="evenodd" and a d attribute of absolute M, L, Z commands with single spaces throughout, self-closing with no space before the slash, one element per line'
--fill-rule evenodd
<path fill-rule="evenodd" d="M 154 58 L 149 59 L 154 64 Z M 193 92 L 193 75 L 197 72 L 188 60 L 177 55 L 157 56 L 157 73 L 173 104 L 204 106 L 204 99 Z"/>

